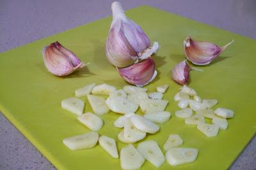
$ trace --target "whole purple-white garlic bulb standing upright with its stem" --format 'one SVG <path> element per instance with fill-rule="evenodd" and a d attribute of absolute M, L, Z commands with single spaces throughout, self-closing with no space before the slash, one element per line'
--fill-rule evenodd
<path fill-rule="evenodd" d="M 106 41 L 106 56 L 112 65 L 124 68 L 138 61 L 140 57 L 145 59 L 156 52 L 158 43 L 154 43 L 154 46 L 147 50 L 150 47 L 147 35 L 140 26 L 127 19 L 119 2 L 112 3 L 111 10 L 113 21 Z"/>

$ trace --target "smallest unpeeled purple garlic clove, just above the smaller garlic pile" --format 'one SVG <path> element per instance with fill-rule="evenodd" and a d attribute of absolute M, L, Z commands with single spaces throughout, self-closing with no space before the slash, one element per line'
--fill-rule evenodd
<path fill-rule="evenodd" d="M 188 84 L 190 66 L 186 60 L 175 65 L 172 70 L 172 79 L 180 85 Z"/>

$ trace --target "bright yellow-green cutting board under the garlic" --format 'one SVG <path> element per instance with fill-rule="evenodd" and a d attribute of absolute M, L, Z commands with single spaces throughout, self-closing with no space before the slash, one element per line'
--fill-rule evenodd
<path fill-rule="evenodd" d="M 173 116 L 157 134 L 147 135 L 144 140 L 154 139 L 163 149 L 169 134 L 179 134 L 184 140 L 182 146 L 199 149 L 195 162 L 176 167 L 165 162 L 159 169 L 227 169 L 255 134 L 255 40 L 148 6 L 129 10 L 127 15 L 140 24 L 152 42 L 161 45 L 154 56 L 158 75 L 147 86 L 148 91 L 156 91 L 162 84 L 170 85 L 164 99 L 170 101 L 166 110 Z M 0 110 L 58 169 L 120 169 L 119 159 L 111 158 L 99 144 L 90 150 L 70 151 L 62 143 L 65 137 L 89 132 L 75 114 L 61 109 L 63 98 L 73 97 L 75 89 L 92 82 L 116 88 L 127 84 L 105 57 L 110 23 L 108 17 L 0 54 Z M 217 107 L 234 110 L 227 130 L 220 130 L 217 137 L 205 137 L 195 126 L 186 125 L 173 114 L 179 109 L 173 96 L 180 86 L 170 79 L 170 70 L 184 59 L 182 40 L 186 36 L 218 45 L 235 40 L 211 65 L 200 67 L 204 72 L 190 73 L 189 86 L 200 97 L 217 98 Z M 56 40 L 90 65 L 67 77 L 47 72 L 41 50 Z M 86 98 L 84 101 L 84 111 L 92 111 Z M 118 116 L 113 112 L 102 116 L 104 127 L 99 134 L 117 141 L 121 129 L 115 128 L 113 121 Z M 120 151 L 125 144 L 117 143 Z M 145 162 L 142 169 L 155 167 Z"/>

